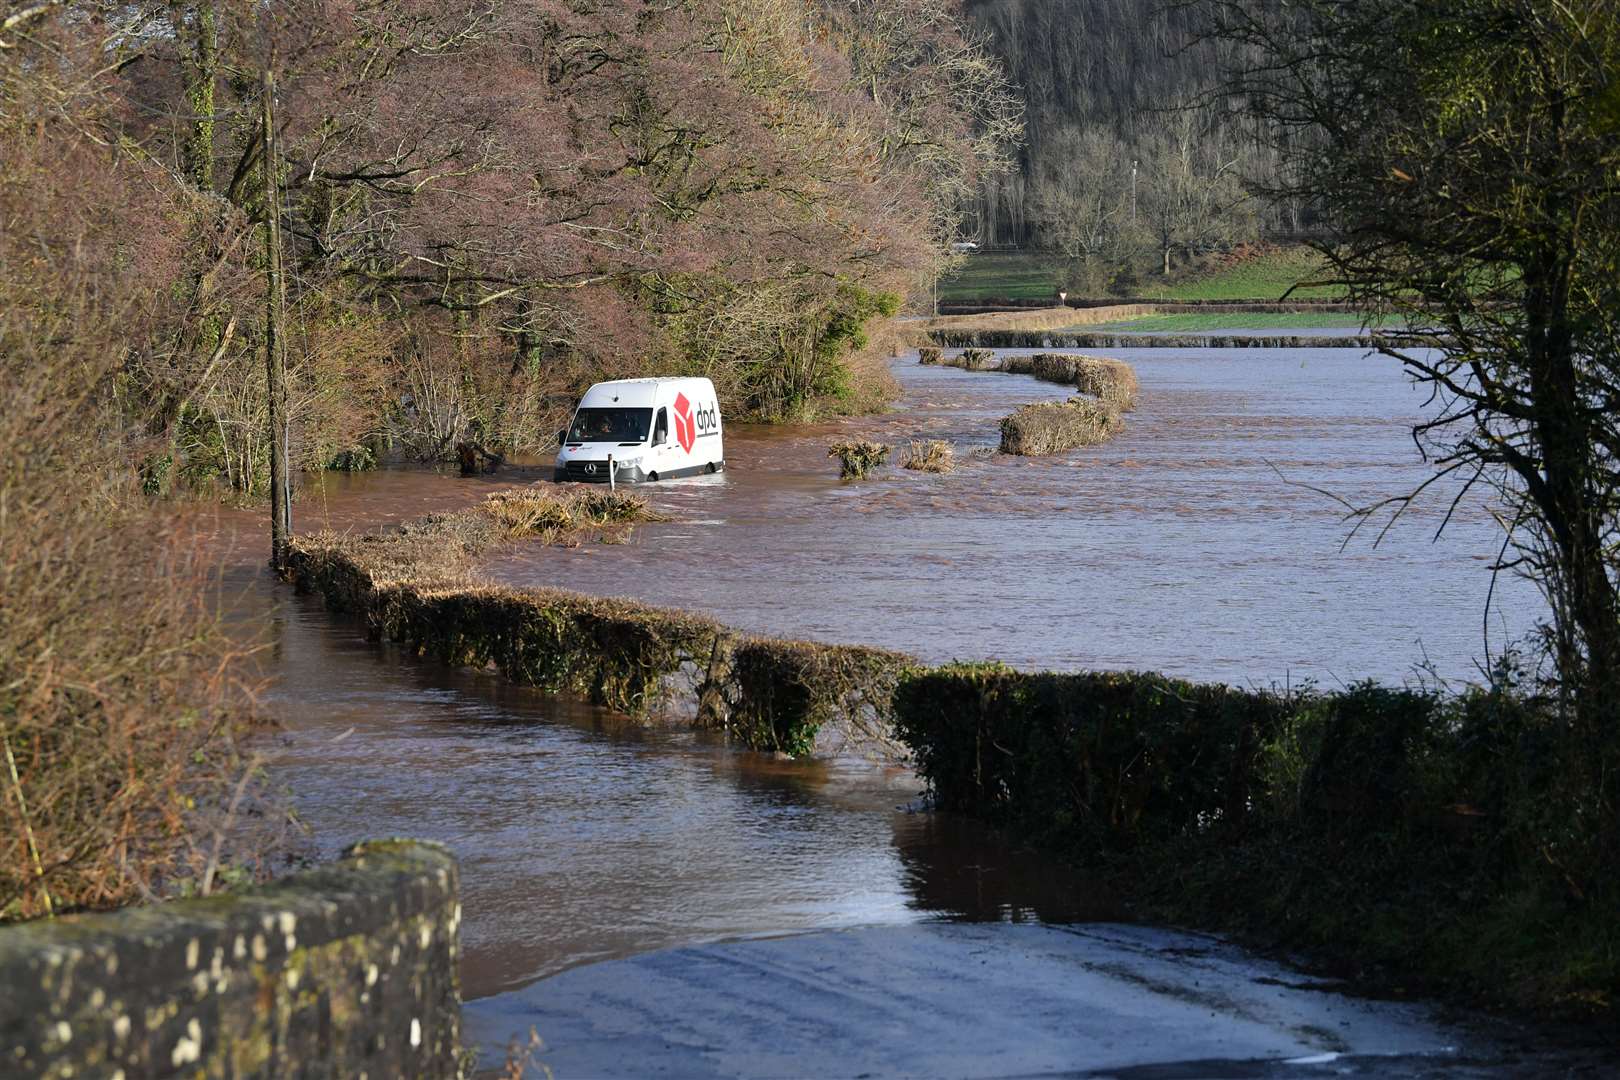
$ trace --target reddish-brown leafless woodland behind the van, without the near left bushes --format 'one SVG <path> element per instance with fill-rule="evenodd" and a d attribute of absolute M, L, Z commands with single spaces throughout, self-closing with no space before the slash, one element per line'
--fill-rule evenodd
<path fill-rule="evenodd" d="M 295 466 L 536 449 L 582 382 L 849 403 L 1017 104 L 944 0 L 8 3 L 16 317 L 117 353 L 146 481 L 262 487 L 267 180 Z M 264 160 L 264 74 L 275 159 Z"/>

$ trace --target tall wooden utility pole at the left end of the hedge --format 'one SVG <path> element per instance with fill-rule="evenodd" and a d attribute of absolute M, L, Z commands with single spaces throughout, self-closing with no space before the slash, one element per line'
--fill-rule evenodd
<path fill-rule="evenodd" d="M 293 529 L 292 474 L 287 468 L 287 285 L 282 279 L 282 186 L 275 168 L 275 70 L 264 68 L 264 369 L 271 395 L 271 567 L 287 568 Z"/>

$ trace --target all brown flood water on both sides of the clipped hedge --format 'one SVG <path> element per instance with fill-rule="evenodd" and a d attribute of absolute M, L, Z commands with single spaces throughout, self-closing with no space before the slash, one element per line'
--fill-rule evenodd
<path fill-rule="evenodd" d="M 625 546 L 523 549 L 488 570 L 930 661 L 1294 685 L 1403 680 L 1426 657 L 1447 677 L 1473 672 L 1484 560 L 1500 542 L 1489 518 L 1468 510 L 1432 544 L 1435 500 L 1383 546 L 1341 552 L 1338 508 L 1277 474 L 1349 500 L 1421 478 L 1406 427 L 1422 400 L 1398 372 L 1349 350 L 1118 355 L 1137 368 L 1142 405 L 1108 447 L 841 484 L 825 450 L 834 436 L 944 437 L 969 457 L 1016 405 L 1064 397 L 901 358 L 896 411 L 732 426 L 726 473 L 646 489 L 677 520 Z M 549 466 L 329 478 L 301 494 L 296 526 L 374 529 L 543 476 Z M 1047 860 L 915 813 L 920 785 L 902 767 L 740 753 L 368 643 L 269 581 L 256 528 L 222 521 L 238 552 L 224 588 L 269 643 L 266 704 L 284 724 L 272 774 L 318 855 L 384 836 L 450 845 L 468 997 L 805 929 L 1118 916 Z M 1492 646 L 1536 612 L 1529 589 L 1500 583 Z"/>

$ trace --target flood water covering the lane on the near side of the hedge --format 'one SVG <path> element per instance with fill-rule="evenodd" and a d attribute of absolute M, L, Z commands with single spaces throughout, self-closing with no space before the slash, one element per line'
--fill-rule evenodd
<path fill-rule="evenodd" d="M 983 873 L 1024 865 L 987 834 L 906 813 L 904 769 L 643 727 L 368 643 L 308 599 L 277 623 L 277 779 L 321 857 L 377 836 L 450 845 L 470 996 L 698 941 L 1058 910 Z M 1043 882 L 1064 892 L 1050 868 Z"/>

